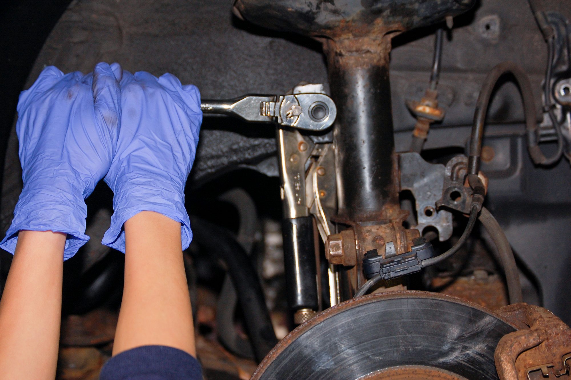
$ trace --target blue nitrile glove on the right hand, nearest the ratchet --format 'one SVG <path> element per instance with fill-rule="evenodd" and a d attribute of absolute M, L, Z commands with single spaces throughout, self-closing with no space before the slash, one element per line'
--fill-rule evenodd
<path fill-rule="evenodd" d="M 103 244 L 125 252 L 123 224 L 154 211 L 182 224 L 182 248 L 192 239 L 184 208 L 184 185 L 202 123 L 200 94 L 171 74 L 125 71 L 121 85 L 121 131 L 105 182 L 114 193 L 111 227 Z"/>

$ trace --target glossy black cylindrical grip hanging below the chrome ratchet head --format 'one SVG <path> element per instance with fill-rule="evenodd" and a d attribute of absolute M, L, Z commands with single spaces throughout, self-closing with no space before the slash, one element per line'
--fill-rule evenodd
<path fill-rule="evenodd" d="M 318 310 L 313 219 L 283 219 L 282 231 L 288 305 L 293 310 Z"/>

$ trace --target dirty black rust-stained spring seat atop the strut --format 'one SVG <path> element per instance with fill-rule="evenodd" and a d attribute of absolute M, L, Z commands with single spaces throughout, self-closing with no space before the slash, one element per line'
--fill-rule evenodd
<path fill-rule="evenodd" d="M 403 31 L 469 10 L 475 0 L 236 0 L 235 13 L 270 29 L 332 38 Z"/>

